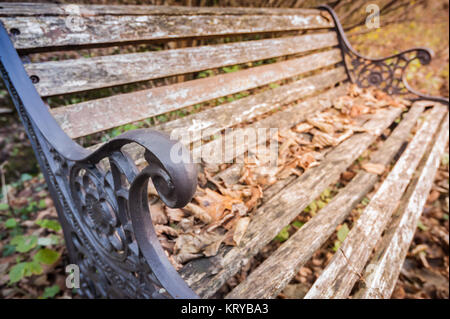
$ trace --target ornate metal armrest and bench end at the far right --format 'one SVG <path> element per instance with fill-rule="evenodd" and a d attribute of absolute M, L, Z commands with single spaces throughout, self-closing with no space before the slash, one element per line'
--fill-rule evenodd
<path fill-rule="evenodd" d="M 433 53 L 430 49 L 412 48 L 380 59 L 364 57 L 351 46 L 333 9 L 328 5 L 322 5 L 319 9 L 329 12 L 334 20 L 345 70 L 352 83 L 363 88 L 375 86 L 388 94 L 402 95 L 411 100 L 431 100 L 449 104 L 448 98 L 430 96 L 414 90 L 406 80 L 406 70 L 413 60 L 418 59 L 422 65 L 431 62 Z"/>

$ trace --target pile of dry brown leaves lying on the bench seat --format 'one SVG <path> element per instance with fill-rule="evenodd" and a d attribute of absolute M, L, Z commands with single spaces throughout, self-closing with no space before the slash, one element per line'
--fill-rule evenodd
<path fill-rule="evenodd" d="M 247 152 L 238 181 L 232 184 L 214 176 L 220 169 L 205 165 L 200 174 L 201 187 L 182 209 L 166 207 L 150 187 L 152 221 L 172 264 L 180 269 L 192 259 L 216 255 L 222 245 L 238 246 L 267 187 L 319 165 L 332 147 L 365 131 L 362 124 L 368 114 L 387 106 L 404 108 L 404 104 L 377 89 L 351 85 L 348 94 L 336 99 L 333 107 L 279 131 L 276 164 L 270 161 L 273 154 L 267 147 Z"/>

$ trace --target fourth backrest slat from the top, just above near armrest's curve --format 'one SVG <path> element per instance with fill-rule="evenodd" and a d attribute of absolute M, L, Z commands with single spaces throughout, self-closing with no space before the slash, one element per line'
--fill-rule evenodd
<path fill-rule="evenodd" d="M 333 49 L 211 78 L 73 104 L 51 112 L 62 129 L 76 138 L 294 77 L 339 61 L 340 51 Z"/>

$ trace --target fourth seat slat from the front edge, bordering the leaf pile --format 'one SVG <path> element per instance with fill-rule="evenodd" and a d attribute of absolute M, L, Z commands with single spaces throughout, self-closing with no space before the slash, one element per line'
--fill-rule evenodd
<path fill-rule="evenodd" d="M 379 112 L 365 124 L 371 133 L 356 134 L 328 153 L 317 167 L 307 170 L 260 206 L 238 247 L 222 248 L 211 258 L 188 263 L 181 271 L 186 282 L 202 297 L 212 296 L 249 258 L 254 256 L 314 198 L 344 171 L 400 114 L 400 109 Z"/>

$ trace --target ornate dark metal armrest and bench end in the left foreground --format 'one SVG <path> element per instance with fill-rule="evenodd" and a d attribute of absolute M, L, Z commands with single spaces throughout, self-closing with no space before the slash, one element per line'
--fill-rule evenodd
<path fill-rule="evenodd" d="M 153 130 L 122 134 L 95 151 L 69 138 L 50 114 L 0 25 L 0 71 L 25 126 L 63 226 L 82 296 L 198 298 L 170 264 L 148 207 L 151 178 L 169 207 L 187 204 L 197 187 L 192 159 L 174 162 L 177 143 Z M 122 146 L 145 148 L 138 171 Z M 187 152 L 185 150 L 185 152 Z"/>

